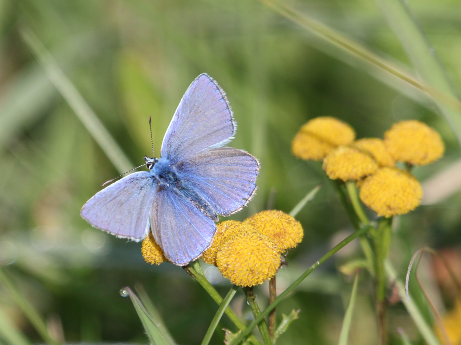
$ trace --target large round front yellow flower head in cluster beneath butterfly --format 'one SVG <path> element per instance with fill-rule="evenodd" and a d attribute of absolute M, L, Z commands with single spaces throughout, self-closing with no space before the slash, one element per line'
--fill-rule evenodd
<path fill-rule="evenodd" d="M 280 267 L 280 253 L 267 236 L 250 229 L 228 239 L 216 254 L 221 274 L 238 286 L 259 285 Z"/>

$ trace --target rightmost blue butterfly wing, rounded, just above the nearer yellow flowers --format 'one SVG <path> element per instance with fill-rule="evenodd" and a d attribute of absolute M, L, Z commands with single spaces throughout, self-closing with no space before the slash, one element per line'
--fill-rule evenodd
<path fill-rule="evenodd" d="M 204 150 L 183 167 L 187 179 L 222 215 L 241 210 L 256 190 L 258 160 L 237 148 Z"/>

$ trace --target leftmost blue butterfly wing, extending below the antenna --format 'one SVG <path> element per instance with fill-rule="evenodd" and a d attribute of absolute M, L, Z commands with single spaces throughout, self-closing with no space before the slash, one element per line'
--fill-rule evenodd
<path fill-rule="evenodd" d="M 149 233 L 149 212 L 156 193 L 150 172 L 134 172 L 96 193 L 80 215 L 95 228 L 140 241 Z"/>

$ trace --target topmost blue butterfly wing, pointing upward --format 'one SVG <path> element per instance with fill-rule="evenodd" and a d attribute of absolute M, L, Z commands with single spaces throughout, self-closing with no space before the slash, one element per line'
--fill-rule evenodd
<path fill-rule="evenodd" d="M 225 145 L 236 124 L 224 91 L 207 74 L 190 85 L 163 138 L 161 156 L 179 163 L 208 147 Z"/>

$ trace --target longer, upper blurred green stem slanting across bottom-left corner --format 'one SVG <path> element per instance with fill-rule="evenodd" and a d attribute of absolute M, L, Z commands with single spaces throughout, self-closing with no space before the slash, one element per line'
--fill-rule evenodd
<path fill-rule="evenodd" d="M 13 282 L 10 280 L 6 272 L 0 268 L 0 282 L 9 290 L 14 301 L 24 312 L 35 330 L 40 334 L 41 338 L 50 345 L 59 345 L 60 343 L 54 340 L 49 334 L 45 321 L 40 317 L 37 311 L 32 307 L 29 301 L 19 293 Z"/>

